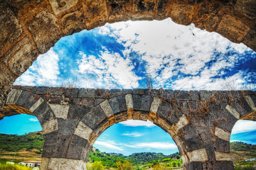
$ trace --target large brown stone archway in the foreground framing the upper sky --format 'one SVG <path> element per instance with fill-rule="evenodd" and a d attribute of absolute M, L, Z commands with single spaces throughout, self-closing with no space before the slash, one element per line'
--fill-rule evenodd
<path fill-rule="evenodd" d="M 15 79 L 65 35 L 107 22 L 171 17 L 256 50 L 255 13 L 254 0 L 0 1 L 0 108 Z"/>

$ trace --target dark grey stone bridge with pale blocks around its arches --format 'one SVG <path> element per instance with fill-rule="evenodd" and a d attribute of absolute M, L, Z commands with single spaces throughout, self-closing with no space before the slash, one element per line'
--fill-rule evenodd
<path fill-rule="evenodd" d="M 1 118 L 36 115 L 44 136 L 42 169 L 85 169 L 99 135 L 124 120 L 150 120 L 171 135 L 183 169 L 234 169 L 230 132 L 256 120 L 255 91 L 67 89 L 14 86 Z"/>

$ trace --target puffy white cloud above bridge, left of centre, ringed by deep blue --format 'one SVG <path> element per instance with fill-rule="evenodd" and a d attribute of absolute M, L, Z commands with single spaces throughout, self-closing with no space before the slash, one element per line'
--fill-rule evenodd
<path fill-rule="evenodd" d="M 97 57 L 87 56 L 82 52 L 80 55 L 78 72 L 82 74 L 85 81 L 90 82 L 92 87 L 113 89 L 122 86 L 122 88 L 128 89 L 139 86 L 138 80 L 141 78 L 132 72 L 134 69 L 132 62 L 128 58 L 121 57 L 119 53 L 111 53 L 105 49 Z"/>

